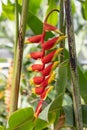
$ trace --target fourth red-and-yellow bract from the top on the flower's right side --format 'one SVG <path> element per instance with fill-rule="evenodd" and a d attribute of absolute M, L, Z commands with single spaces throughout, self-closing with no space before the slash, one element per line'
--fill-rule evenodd
<path fill-rule="evenodd" d="M 48 76 L 58 66 L 59 63 L 60 63 L 59 61 L 55 61 L 54 63 L 48 65 L 41 71 L 42 75 Z"/>

